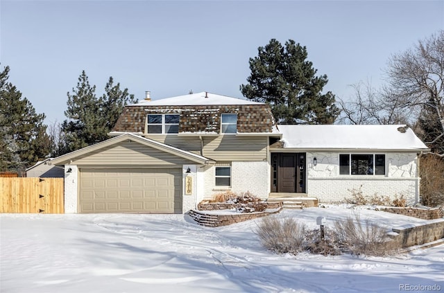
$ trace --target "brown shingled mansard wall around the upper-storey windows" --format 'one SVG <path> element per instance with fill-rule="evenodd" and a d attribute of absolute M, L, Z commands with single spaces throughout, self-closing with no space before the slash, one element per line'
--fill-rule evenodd
<path fill-rule="evenodd" d="M 218 133 L 221 114 L 237 114 L 237 132 L 273 132 L 275 120 L 268 105 L 126 106 L 113 132 L 145 133 L 147 114 L 180 114 L 179 132 Z"/>

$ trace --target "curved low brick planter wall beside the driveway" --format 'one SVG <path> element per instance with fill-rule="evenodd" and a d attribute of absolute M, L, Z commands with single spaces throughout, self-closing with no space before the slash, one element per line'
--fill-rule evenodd
<path fill-rule="evenodd" d="M 275 211 L 264 211 L 259 213 L 233 213 L 233 214 L 212 214 L 205 213 L 205 211 L 191 210 L 187 214 L 198 224 L 205 227 L 221 227 L 246 220 L 257 219 L 258 217 L 264 217 L 264 215 L 272 215 L 273 213 L 279 213 L 282 210 L 281 207 Z"/>

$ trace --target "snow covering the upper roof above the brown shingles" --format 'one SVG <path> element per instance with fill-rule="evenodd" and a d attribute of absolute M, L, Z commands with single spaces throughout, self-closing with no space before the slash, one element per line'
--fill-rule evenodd
<path fill-rule="evenodd" d="M 196 106 L 196 105 L 265 105 L 264 103 L 231 98 L 202 91 L 196 94 L 188 94 L 159 100 L 139 100 L 139 103 L 130 106 Z"/>

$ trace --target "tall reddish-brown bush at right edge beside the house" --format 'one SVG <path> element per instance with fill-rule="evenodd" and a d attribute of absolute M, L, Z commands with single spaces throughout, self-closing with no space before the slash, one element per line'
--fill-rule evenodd
<path fill-rule="evenodd" d="M 432 153 L 423 154 L 420 157 L 420 177 L 421 204 L 444 204 L 444 157 Z"/>

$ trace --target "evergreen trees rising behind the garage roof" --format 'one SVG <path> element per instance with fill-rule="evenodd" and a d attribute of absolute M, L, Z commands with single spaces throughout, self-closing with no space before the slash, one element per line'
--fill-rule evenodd
<path fill-rule="evenodd" d="M 128 89 L 120 89 L 120 83 L 114 85 L 112 77 L 105 86 L 105 94 L 96 96 L 96 86 L 89 85 L 85 71 L 82 71 L 72 94 L 67 94 L 67 120 L 62 123 L 65 137 L 65 154 L 88 145 L 108 139 L 108 132 L 117 122 L 123 107 L 133 103 L 134 95 L 128 94 Z"/>

